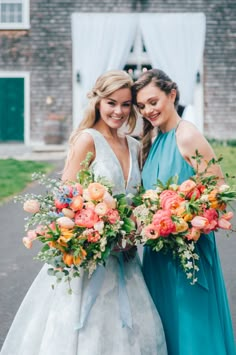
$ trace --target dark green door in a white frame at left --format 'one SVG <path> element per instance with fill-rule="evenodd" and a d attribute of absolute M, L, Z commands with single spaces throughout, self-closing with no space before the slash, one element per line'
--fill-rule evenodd
<path fill-rule="evenodd" d="M 24 141 L 24 78 L 0 78 L 0 142 Z"/>

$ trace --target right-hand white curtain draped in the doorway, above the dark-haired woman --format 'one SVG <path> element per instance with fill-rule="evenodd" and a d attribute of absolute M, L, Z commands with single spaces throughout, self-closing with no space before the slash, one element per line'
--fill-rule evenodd
<path fill-rule="evenodd" d="M 162 69 L 180 90 L 180 103 L 191 104 L 206 31 L 202 13 L 140 14 L 140 27 L 153 68 Z"/>

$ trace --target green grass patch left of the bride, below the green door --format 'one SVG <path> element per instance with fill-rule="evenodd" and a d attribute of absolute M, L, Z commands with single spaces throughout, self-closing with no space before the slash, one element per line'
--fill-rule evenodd
<path fill-rule="evenodd" d="M 30 182 L 33 172 L 48 173 L 53 165 L 46 162 L 0 159 L 0 202 L 21 192 Z"/>

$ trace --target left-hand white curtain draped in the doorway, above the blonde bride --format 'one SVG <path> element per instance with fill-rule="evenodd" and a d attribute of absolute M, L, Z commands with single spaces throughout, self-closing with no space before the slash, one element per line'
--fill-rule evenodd
<path fill-rule="evenodd" d="M 73 75 L 79 74 L 82 106 L 100 74 L 125 66 L 137 20 L 135 14 L 122 13 L 72 15 Z"/>

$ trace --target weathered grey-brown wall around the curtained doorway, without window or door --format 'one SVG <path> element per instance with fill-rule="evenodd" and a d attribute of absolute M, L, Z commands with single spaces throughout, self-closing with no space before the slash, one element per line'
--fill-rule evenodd
<path fill-rule="evenodd" d="M 32 0 L 29 31 L 0 30 L 0 70 L 31 73 L 31 141 L 42 141 L 49 117 L 72 123 L 73 12 L 204 12 L 204 132 L 236 138 L 236 2 L 234 0 Z M 47 97 L 52 103 L 47 104 Z"/>

